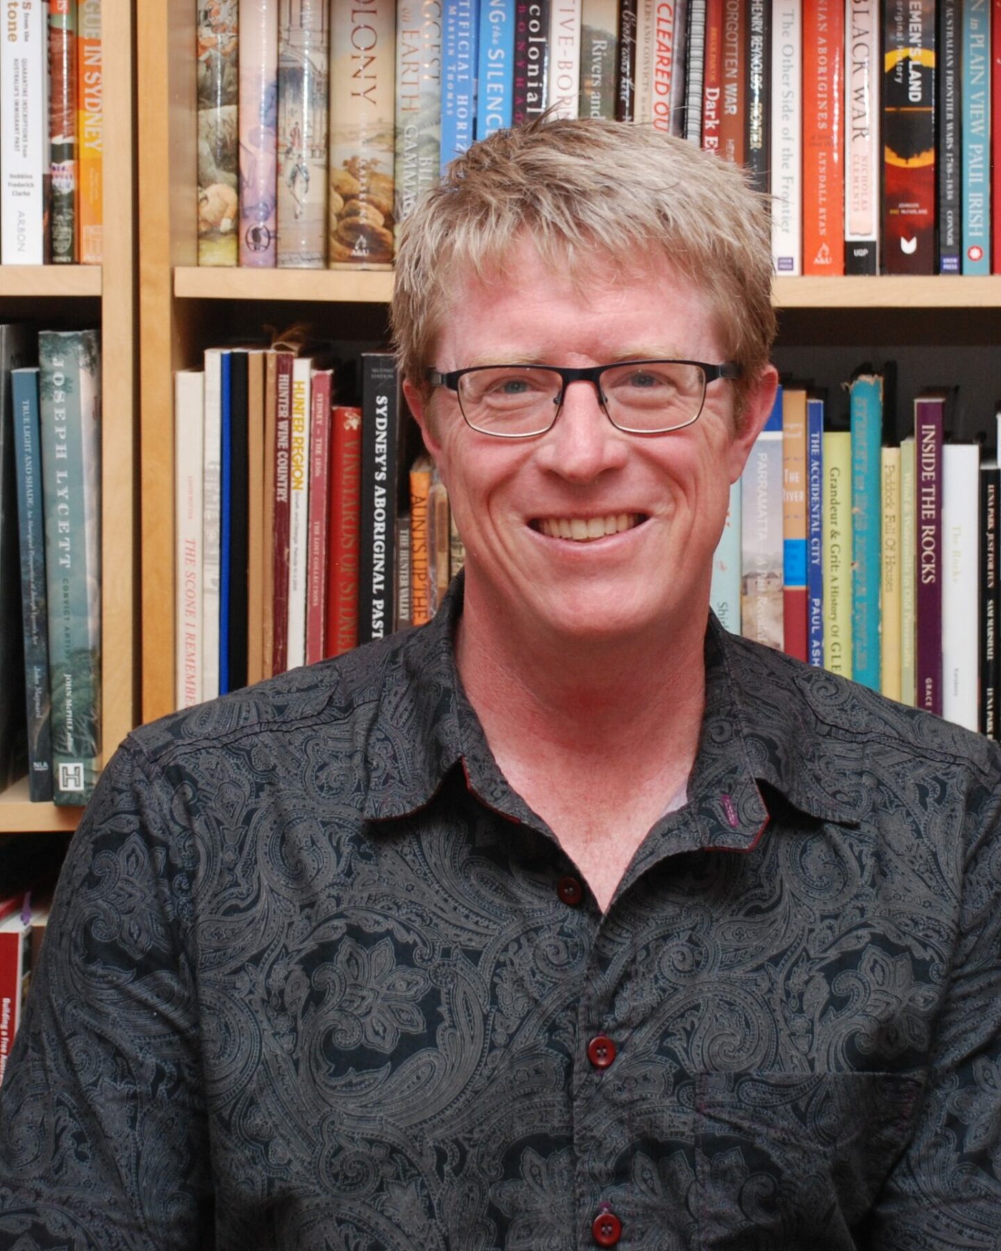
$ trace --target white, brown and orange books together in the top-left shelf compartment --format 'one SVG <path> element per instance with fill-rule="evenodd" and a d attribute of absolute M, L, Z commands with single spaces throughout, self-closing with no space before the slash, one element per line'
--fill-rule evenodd
<path fill-rule="evenodd" d="M 101 0 L 8 4 L 0 45 L 0 261 L 101 263 Z"/>

